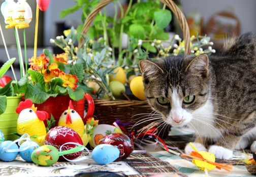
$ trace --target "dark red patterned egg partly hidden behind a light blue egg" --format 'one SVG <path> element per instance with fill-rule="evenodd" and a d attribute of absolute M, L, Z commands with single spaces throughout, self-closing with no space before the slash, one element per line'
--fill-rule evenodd
<path fill-rule="evenodd" d="M 116 161 L 129 157 L 129 155 L 134 150 L 133 141 L 125 134 L 113 133 L 106 135 L 101 139 L 99 144 L 109 144 L 116 146 L 120 151 L 119 157 L 116 159 Z"/>

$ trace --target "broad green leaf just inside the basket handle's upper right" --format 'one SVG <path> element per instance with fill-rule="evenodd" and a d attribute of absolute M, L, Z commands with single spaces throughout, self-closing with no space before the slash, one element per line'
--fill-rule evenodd
<path fill-rule="evenodd" d="M 154 20 L 157 27 L 164 29 L 170 24 L 172 14 L 169 10 L 159 10 L 154 12 Z"/>

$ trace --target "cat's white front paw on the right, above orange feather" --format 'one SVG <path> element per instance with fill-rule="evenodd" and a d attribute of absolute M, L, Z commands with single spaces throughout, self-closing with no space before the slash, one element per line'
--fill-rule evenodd
<path fill-rule="evenodd" d="M 233 156 L 232 150 L 221 146 L 211 146 L 208 152 L 213 153 L 216 159 L 230 159 Z"/>

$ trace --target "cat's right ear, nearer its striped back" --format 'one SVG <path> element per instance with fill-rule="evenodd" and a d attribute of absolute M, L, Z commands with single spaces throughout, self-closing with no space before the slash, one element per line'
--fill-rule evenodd
<path fill-rule="evenodd" d="M 188 63 L 185 71 L 197 75 L 200 74 L 202 77 L 207 77 L 209 74 L 208 64 L 208 56 L 206 54 L 201 54 Z"/>

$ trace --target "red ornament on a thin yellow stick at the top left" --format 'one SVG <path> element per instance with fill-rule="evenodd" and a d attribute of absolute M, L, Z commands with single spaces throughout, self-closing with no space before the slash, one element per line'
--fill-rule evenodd
<path fill-rule="evenodd" d="M 39 9 L 44 12 L 48 9 L 49 4 L 50 4 L 50 0 L 37 0 L 35 42 L 34 42 L 34 58 L 37 58 Z"/>

